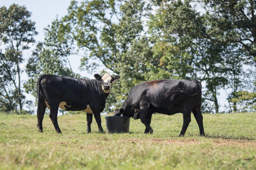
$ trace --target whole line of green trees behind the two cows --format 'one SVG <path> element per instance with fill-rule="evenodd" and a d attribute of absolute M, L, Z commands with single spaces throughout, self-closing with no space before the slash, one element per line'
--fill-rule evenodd
<path fill-rule="evenodd" d="M 120 107 L 134 85 L 156 79 L 200 80 L 202 112 L 219 112 L 221 89 L 228 96 L 226 112 L 255 111 L 255 15 L 253 0 L 72 1 L 67 15 L 45 28 L 23 85 L 22 51 L 35 43 L 35 23 L 26 7 L 1 7 L 0 108 L 18 105 L 22 112 L 28 101 L 21 87 L 36 96 L 41 74 L 81 77 L 69 64 L 79 54 L 82 70 L 98 73 L 103 64 L 121 77 L 106 111 Z"/>

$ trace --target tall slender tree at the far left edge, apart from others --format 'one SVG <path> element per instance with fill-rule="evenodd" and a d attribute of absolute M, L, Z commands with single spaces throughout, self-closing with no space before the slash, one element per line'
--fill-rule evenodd
<path fill-rule="evenodd" d="M 24 70 L 20 64 L 24 61 L 23 50 L 30 48 L 35 42 L 33 36 L 38 34 L 30 17 L 31 13 L 24 6 L 13 4 L 8 9 L 0 8 L 0 107 L 7 105 L 8 111 L 18 103 L 22 112 L 26 102 L 21 82 Z"/>

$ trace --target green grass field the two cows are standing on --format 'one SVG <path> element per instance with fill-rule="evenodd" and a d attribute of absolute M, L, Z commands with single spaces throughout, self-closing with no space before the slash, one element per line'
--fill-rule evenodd
<path fill-rule="evenodd" d="M 153 115 L 152 135 L 131 119 L 130 133 L 86 133 L 86 114 L 58 117 L 56 134 L 49 115 L 38 133 L 36 115 L 0 113 L 0 169 L 9 170 L 255 170 L 256 113 L 205 114 L 206 137 L 192 115 L 184 137 L 182 114 Z M 102 116 L 105 127 L 105 116 Z"/>

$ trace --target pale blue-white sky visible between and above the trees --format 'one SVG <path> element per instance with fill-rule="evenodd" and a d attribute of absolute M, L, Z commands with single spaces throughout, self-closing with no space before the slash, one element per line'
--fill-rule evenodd
<path fill-rule="evenodd" d="M 82 0 L 77 1 L 81 2 Z M 69 7 L 70 2 L 71 0 L 0 0 L 0 7 L 5 6 L 9 8 L 9 6 L 13 3 L 20 6 L 24 5 L 27 10 L 32 13 L 30 19 L 36 23 L 36 31 L 38 32 L 38 35 L 36 35 L 34 38 L 37 42 L 39 42 L 44 40 L 44 28 L 46 28 L 47 25 L 51 25 L 51 22 L 56 19 L 57 16 L 58 18 L 61 18 L 67 14 L 67 8 Z M 28 60 L 28 58 L 31 56 L 33 48 L 34 46 L 31 46 L 30 50 L 23 52 L 25 60 Z M 84 77 L 93 79 L 94 77 L 92 74 L 79 70 L 80 59 L 81 56 L 72 56 L 72 60 L 70 60 L 72 70 Z M 26 61 L 22 65 L 23 68 L 25 68 L 25 65 Z M 23 73 L 22 78 L 24 81 L 28 80 L 26 73 Z M 35 101 L 35 97 L 30 94 L 26 94 L 26 97 L 28 100 Z M 225 109 L 224 104 L 228 105 L 226 98 L 227 95 L 225 90 L 220 90 L 220 95 L 218 96 L 218 100 L 221 105 L 220 111 Z M 35 106 L 33 106 L 33 110 L 36 110 Z"/>

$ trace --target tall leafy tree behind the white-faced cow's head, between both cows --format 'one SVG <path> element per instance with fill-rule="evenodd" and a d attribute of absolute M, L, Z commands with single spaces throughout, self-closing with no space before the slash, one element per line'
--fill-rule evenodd
<path fill-rule="evenodd" d="M 59 24 L 52 23 L 57 42 L 72 40 L 72 52 L 84 52 L 82 69 L 93 72 L 101 63 L 123 77 L 111 90 L 106 109 L 113 103 L 120 105 L 131 87 L 145 80 L 145 63 L 151 53 L 148 39 L 142 36 L 141 18 L 148 15 L 149 8 L 141 0 L 92 0 L 81 5 L 72 1 Z M 89 62 L 92 60 L 96 62 Z"/>

